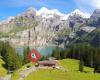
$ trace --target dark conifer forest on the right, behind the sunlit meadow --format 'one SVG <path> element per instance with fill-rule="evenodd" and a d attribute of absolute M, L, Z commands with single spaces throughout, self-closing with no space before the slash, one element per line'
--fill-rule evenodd
<path fill-rule="evenodd" d="M 66 49 L 59 49 L 57 47 L 52 52 L 52 57 L 56 59 L 78 59 L 80 60 L 80 71 L 83 71 L 83 66 L 85 65 L 94 68 L 94 72 L 100 72 L 100 48 L 95 48 L 89 44 L 73 44 L 70 48 Z"/>

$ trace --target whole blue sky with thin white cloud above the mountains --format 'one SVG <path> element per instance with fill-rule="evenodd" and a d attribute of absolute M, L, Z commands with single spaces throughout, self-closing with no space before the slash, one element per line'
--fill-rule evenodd
<path fill-rule="evenodd" d="M 0 20 L 23 13 L 29 7 L 39 10 L 41 7 L 58 9 L 70 13 L 75 9 L 92 14 L 100 8 L 100 0 L 0 0 Z"/>

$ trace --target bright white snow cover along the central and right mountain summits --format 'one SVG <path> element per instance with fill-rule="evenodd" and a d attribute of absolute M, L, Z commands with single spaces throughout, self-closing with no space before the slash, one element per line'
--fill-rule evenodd
<path fill-rule="evenodd" d="M 67 20 L 69 16 L 79 15 L 83 18 L 89 18 L 90 15 L 88 13 L 84 13 L 78 9 L 74 10 L 73 12 L 69 14 L 63 14 L 57 9 L 47 9 L 45 7 L 42 7 L 40 10 L 37 11 L 37 16 L 41 16 L 42 18 L 51 18 L 54 15 L 60 16 L 61 20 Z"/>

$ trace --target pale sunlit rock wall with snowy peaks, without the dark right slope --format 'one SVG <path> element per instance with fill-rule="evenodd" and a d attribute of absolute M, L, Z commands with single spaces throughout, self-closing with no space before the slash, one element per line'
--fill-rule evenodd
<path fill-rule="evenodd" d="M 1 22 L 0 37 L 16 47 L 64 46 L 65 42 L 68 45 L 76 37 L 78 31 L 94 30 L 87 27 L 86 20 L 87 14 L 79 10 L 62 14 L 56 9 L 43 7 L 37 11 L 31 7 L 23 14 Z"/>

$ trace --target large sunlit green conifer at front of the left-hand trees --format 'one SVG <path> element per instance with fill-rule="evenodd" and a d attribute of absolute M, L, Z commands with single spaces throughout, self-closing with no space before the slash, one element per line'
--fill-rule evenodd
<path fill-rule="evenodd" d="M 16 70 L 22 66 L 19 55 L 16 53 L 15 49 L 12 47 L 7 48 L 7 67 L 8 70 Z"/>

